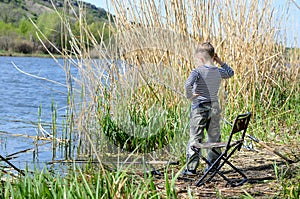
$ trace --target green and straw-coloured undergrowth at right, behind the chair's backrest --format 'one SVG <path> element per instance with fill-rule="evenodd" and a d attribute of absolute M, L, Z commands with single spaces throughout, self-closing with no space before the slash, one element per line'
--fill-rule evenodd
<path fill-rule="evenodd" d="M 237 114 L 255 109 L 248 129 L 249 134 L 269 142 L 278 137 L 280 139 L 275 140 L 276 142 L 299 141 L 300 120 L 297 115 L 300 114 L 300 107 L 297 104 L 300 104 L 300 84 L 294 82 L 292 85 L 290 77 L 284 76 L 279 76 L 276 82 L 267 88 L 271 91 L 270 95 L 263 95 L 261 90 L 257 90 L 249 101 L 245 101 L 242 95 L 238 95 L 234 101 L 228 101 L 223 111 L 224 117 L 231 122 Z M 237 106 L 243 108 L 236 108 Z M 222 132 L 228 132 L 229 128 L 225 125 Z"/>

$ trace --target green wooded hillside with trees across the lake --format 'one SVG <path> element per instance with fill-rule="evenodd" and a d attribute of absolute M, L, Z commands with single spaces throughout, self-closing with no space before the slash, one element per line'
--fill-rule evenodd
<path fill-rule="evenodd" d="M 31 0 L 33 1 L 33 0 Z M 39 35 L 44 45 L 52 53 L 57 53 L 55 48 L 50 45 L 50 42 L 58 49 L 62 48 L 62 22 L 60 16 L 54 11 L 52 4 L 45 1 L 0 1 L 0 50 L 12 51 L 20 53 L 33 53 L 47 51 L 42 47 L 40 41 L 37 38 L 36 33 L 39 32 L 32 22 L 37 25 L 38 29 L 47 38 Z M 59 1 L 58 1 L 59 2 Z M 63 4 L 57 4 L 56 8 L 58 12 L 61 12 Z M 74 4 L 74 9 L 78 9 L 78 4 Z M 81 5 L 82 6 L 82 5 Z M 104 28 L 104 20 L 107 19 L 107 13 L 103 9 L 98 9 L 90 4 L 84 7 L 86 9 L 86 26 L 90 33 L 100 43 L 100 35 L 104 30 L 104 41 L 108 37 L 108 28 Z M 52 10 L 52 11 L 51 11 Z M 79 23 L 77 17 L 67 16 L 70 20 L 70 26 L 72 28 L 72 34 L 79 38 L 82 32 L 79 31 Z M 75 24 L 75 25 L 73 25 Z M 64 34 L 68 34 L 67 32 Z M 89 47 L 92 42 L 87 40 L 86 33 L 82 35 Z M 49 40 L 50 42 L 46 41 Z M 70 48 L 69 41 L 66 41 L 68 48 Z"/>

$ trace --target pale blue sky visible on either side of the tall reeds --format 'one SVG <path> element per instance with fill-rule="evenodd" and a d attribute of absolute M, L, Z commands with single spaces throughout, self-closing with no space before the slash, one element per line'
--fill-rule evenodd
<path fill-rule="evenodd" d="M 110 0 L 83 0 L 85 2 L 94 4 L 99 8 L 104 8 L 106 11 L 113 13 Z M 295 42 L 297 47 L 300 47 L 300 0 L 273 0 L 276 9 L 278 8 L 278 15 L 282 14 L 284 5 L 288 4 L 290 9 L 288 11 L 288 20 L 282 29 L 287 32 L 287 46 L 294 47 Z"/>

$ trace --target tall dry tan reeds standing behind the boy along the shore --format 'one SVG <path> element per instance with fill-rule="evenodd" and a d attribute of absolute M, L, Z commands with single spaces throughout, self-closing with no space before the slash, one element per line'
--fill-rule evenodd
<path fill-rule="evenodd" d="M 159 119 L 155 113 L 178 107 L 188 112 L 183 84 L 195 67 L 194 49 L 203 41 L 213 43 L 219 56 L 235 70 L 235 77 L 224 83 L 220 93 L 222 104 L 228 103 L 226 114 L 247 110 L 255 115 L 262 107 L 268 112 L 274 108 L 271 105 L 274 92 L 287 92 L 283 85 L 293 85 L 281 104 L 283 109 L 299 89 L 297 53 L 289 56 L 292 60 L 286 60 L 286 49 L 279 42 L 285 16 L 275 18 L 271 1 L 113 0 L 111 3 L 116 15 L 109 16 L 107 24 L 99 30 L 100 41 L 90 33 L 82 10 L 69 11 L 79 21 L 79 37 L 73 34 L 66 16 L 61 16 L 67 32 L 64 36 L 69 35 L 63 41 L 71 46 L 69 51 L 64 48 L 66 51 L 61 53 L 78 68 L 75 81 L 82 92 L 81 106 L 74 110 L 78 113 L 76 127 L 89 142 L 103 139 L 99 117 L 105 114 L 127 125 L 132 122 L 132 108 L 147 121 L 154 116 Z M 107 43 L 103 38 L 106 28 L 111 33 Z M 186 116 L 178 116 L 181 125 L 184 122 L 188 125 L 183 121 Z M 187 129 L 184 125 L 181 128 Z M 104 146 L 102 141 L 97 147 L 84 142 L 80 145 L 86 145 L 82 148 L 85 154 L 95 154 Z"/>

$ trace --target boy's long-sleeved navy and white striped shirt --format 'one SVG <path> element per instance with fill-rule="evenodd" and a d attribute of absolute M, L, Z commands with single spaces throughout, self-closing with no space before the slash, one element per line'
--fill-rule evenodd
<path fill-rule="evenodd" d="M 202 65 L 192 70 L 185 82 L 186 98 L 192 99 L 192 109 L 201 103 L 217 102 L 221 80 L 233 75 L 234 71 L 226 63 L 221 68 Z"/>

